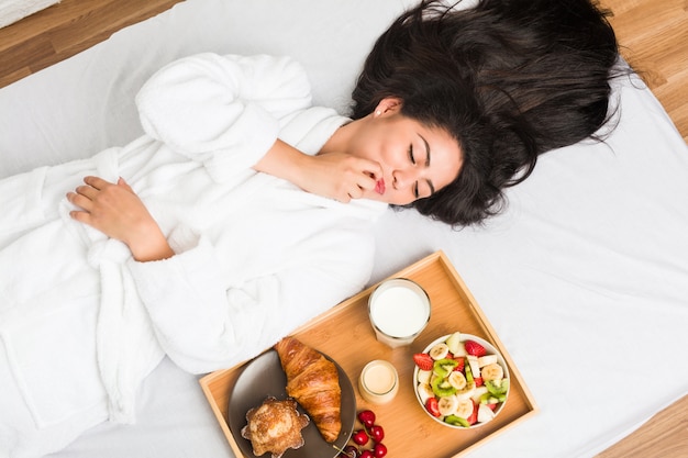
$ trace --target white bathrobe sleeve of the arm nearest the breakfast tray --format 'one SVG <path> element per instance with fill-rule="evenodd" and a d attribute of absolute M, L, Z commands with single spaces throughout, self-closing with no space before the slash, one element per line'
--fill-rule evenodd
<path fill-rule="evenodd" d="M 222 287 L 226 279 L 221 262 L 202 238 L 195 249 L 163 261 L 131 260 L 138 293 L 167 356 L 192 373 L 257 356 L 360 291 L 373 269 L 374 242 L 362 227 L 345 225 L 285 247 L 284 254 L 265 275 L 229 288 Z"/>

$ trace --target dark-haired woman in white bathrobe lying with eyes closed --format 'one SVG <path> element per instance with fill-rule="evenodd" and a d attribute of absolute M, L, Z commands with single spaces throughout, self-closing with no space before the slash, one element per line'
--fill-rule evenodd
<path fill-rule="evenodd" d="M 591 64 L 607 88 L 596 110 L 589 89 L 561 110 L 568 88 L 544 85 L 557 113 L 541 120 L 530 100 L 544 81 L 500 89 L 499 53 L 476 52 L 490 22 L 480 18 L 511 21 L 511 3 L 423 3 L 401 16 L 366 63 L 351 119 L 310 107 L 288 58 L 193 56 L 142 88 L 143 137 L 1 181 L 0 451 L 38 456 L 99 422 L 133 422 L 136 388 L 165 355 L 191 372 L 232 366 L 357 292 L 388 203 L 481 221 L 533 155 L 592 134 L 613 59 Z M 550 16 L 548 3 L 521 20 Z M 572 16 L 608 30 L 576 4 Z M 557 21 L 568 20 L 590 33 Z M 474 23 L 474 46 L 458 46 Z M 613 34 L 602 35 L 615 58 Z M 562 115 L 575 133 L 555 129 Z"/>

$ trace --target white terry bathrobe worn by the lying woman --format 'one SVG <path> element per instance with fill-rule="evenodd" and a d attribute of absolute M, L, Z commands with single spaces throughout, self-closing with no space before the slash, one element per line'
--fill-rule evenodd
<path fill-rule="evenodd" d="M 0 402 L 0 449 L 18 456 L 22 440 L 45 453 L 93 423 L 133 422 L 136 387 L 164 355 L 191 372 L 233 366 L 369 278 L 385 204 L 251 168 L 277 137 L 315 154 L 347 121 L 310 107 L 297 63 L 189 57 L 136 103 L 145 135 L 130 145 L 0 181 L 0 371 L 34 423 Z M 177 255 L 137 262 L 70 220 L 65 193 L 86 175 L 126 179 Z M 36 446 L 49 431 L 59 439 Z"/>

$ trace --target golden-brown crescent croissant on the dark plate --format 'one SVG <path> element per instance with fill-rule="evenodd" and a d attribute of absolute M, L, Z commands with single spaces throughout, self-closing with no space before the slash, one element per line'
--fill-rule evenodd
<path fill-rule="evenodd" d="M 287 375 L 287 394 L 309 414 L 328 443 L 342 431 L 342 388 L 336 366 L 295 337 L 275 345 Z"/>

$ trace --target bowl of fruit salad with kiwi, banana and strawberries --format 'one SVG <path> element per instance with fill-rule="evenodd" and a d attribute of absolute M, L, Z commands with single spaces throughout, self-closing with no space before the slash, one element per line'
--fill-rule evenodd
<path fill-rule="evenodd" d="M 413 355 L 418 400 L 435 420 L 475 427 L 499 413 L 509 393 L 507 368 L 487 342 L 455 332 Z"/>

